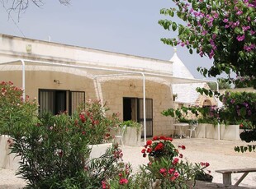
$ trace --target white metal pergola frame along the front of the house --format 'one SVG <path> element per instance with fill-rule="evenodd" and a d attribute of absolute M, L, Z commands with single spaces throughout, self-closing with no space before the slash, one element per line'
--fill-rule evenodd
<path fill-rule="evenodd" d="M 110 72 L 117 72 L 117 74 L 105 74 L 105 75 L 97 75 L 94 76 L 94 79 L 98 77 L 107 77 L 107 76 L 125 76 L 125 75 L 141 75 L 142 76 L 142 82 L 143 82 L 143 119 L 144 119 L 144 141 L 146 143 L 146 107 L 145 107 L 145 76 L 156 76 L 161 77 L 165 79 L 169 79 L 171 84 L 174 84 L 176 81 L 176 84 L 182 84 L 182 83 L 205 83 L 205 82 L 215 82 L 217 85 L 217 91 L 219 91 L 219 85 L 217 81 L 207 81 L 207 80 L 199 80 L 199 79 L 186 79 L 186 78 L 180 78 L 180 77 L 173 77 L 165 74 L 157 74 L 157 73 L 149 73 L 145 71 L 128 71 L 128 70 L 121 70 L 121 69 L 111 69 L 111 68 L 105 68 L 105 67 L 89 67 L 89 66 L 82 66 L 82 65 L 76 65 L 74 62 L 67 63 L 56 63 L 56 62 L 44 62 L 44 61 L 35 61 L 35 60 L 26 60 L 26 59 L 17 59 L 10 62 L 0 62 L 0 65 L 6 65 L 6 64 L 12 64 L 21 62 L 22 66 L 22 89 L 23 89 L 23 99 L 26 99 L 26 80 L 25 80 L 25 74 L 26 74 L 26 62 L 27 63 L 36 63 L 40 65 L 46 65 L 46 66 L 55 66 L 55 67 L 69 67 L 69 68 L 78 68 L 78 69 L 87 69 L 87 70 L 94 70 L 94 71 L 110 71 Z M 220 140 L 220 125 L 218 124 L 218 139 Z"/>

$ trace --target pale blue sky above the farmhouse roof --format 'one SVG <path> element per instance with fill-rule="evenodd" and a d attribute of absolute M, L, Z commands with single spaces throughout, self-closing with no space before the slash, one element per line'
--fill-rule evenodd
<path fill-rule="evenodd" d="M 169 60 L 173 47 L 163 44 L 160 38 L 176 34 L 158 24 L 159 19 L 168 18 L 159 14 L 164 7 L 173 7 L 173 2 L 71 0 L 69 6 L 63 6 L 51 0 L 45 1 L 43 7 L 30 4 L 19 21 L 16 13 L 11 16 L 26 38 Z M 1 3 L 0 33 L 22 37 Z M 178 47 L 178 57 L 196 78 L 203 78 L 197 67 L 211 67 L 212 63 L 196 53 L 191 55 L 187 48 Z"/>

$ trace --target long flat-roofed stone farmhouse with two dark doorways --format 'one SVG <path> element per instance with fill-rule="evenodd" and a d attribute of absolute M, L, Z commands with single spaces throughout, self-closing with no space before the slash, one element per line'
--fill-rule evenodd
<path fill-rule="evenodd" d="M 101 99 L 108 113 L 141 122 L 141 136 L 172 134 L 173 118 L 161 115 L 174 107 L 172 86 L 205 82 L 175 72 L 172 60 L 0 34 L 0 81 L 12 81 L 38 99 L 39 111 L 71 114 L 85 100 Z"/>

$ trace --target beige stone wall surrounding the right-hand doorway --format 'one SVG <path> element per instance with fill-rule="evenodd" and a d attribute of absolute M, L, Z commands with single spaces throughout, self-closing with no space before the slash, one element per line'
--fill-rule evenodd
<path fill-rule="evenodd" d="M 130 87 L 130 84 L 135 87 Z M 146 98 L 153 99 L 153 135 L 173 134 L 173 119 L 164 117 L 161 112 L 172 108 L 171 90 L 168 85 L 146 81 Z M 106 81 L 102 83 L 103 100 L 107 101 L 110 113 L 121 113 L 123 118 L 123 97 L 143 98 L 142 81 Z"/>

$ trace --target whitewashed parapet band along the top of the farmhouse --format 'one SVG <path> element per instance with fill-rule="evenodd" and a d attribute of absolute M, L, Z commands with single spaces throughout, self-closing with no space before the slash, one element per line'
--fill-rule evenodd
<path fill-rule="evenodd" d="M 28 45 L 31 52 L 26 50 Z M 169 61 L 0 34 L 0 62 L 17 59 L 72 62 L 91 67 L 133 69 L 173 75 L 173 64 Z"/>

